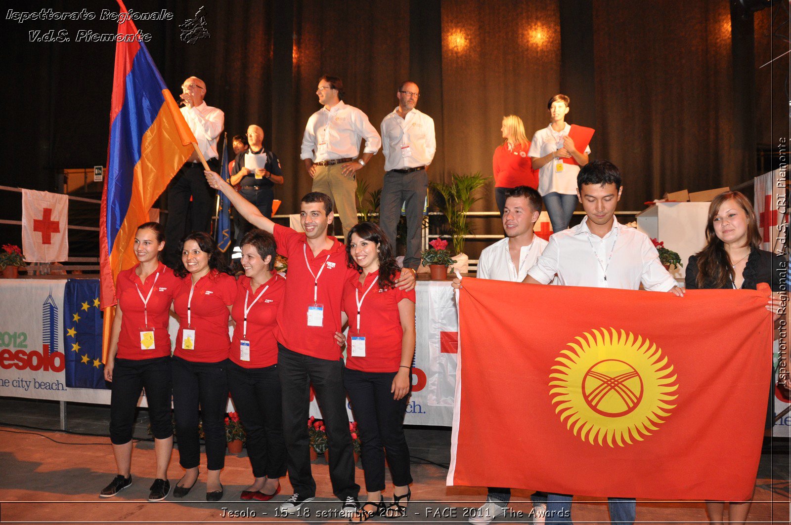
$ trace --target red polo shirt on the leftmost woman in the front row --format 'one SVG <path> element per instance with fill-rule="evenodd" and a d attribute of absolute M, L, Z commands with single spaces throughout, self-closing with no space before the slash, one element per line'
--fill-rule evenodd
<path fill-rule="evenodd" d="M 121 333 L 118 338 L 118 353 L 115 357 L 120 359 L 152 359 L 170 355 L 170 334 L 168 334 L 168 312 L 173 296 L 181 288 L 182 281 L 173 275 L 173 270 L 159 263 L 157 271 L 141 282 L 135 272 L 139 264 L 129 270 L 119 272 L 115 279 L 115 296 L 121 308 Z M 153 289 L 152 289 L 153 288 Z M 143 299 L 149 296 L 147 307 L 143 307 L 143 300 L 138 294 L 142 293 Z M 141 331 L 146 325 L 146 312 L 148 327 L 153 330 L 153 349 L 142 349 Z"/>

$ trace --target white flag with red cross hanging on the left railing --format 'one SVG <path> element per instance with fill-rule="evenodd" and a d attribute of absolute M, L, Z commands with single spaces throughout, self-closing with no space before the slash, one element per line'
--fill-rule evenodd
<path fill-rule="evenodd" d="M 47 191 L 22 190 L 22 253 L 28 263 L 69 258 L 69 198 Z"/>

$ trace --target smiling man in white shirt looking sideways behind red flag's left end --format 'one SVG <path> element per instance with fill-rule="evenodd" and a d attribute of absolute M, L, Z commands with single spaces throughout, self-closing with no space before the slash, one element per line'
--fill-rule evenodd
<path fill-rule="evenodd" d="M 521 282 L 528 270 L 536 263 L 547 241 L 533 233 L 533 226 L 541 213 L 541 195 L 529 186 L 509 188 L 505 192 L 505 207 L 502 213 L 502 228 L 505 239 L 486 247 L 478 260 L 478 273 L 481 279 Z M 454 280 L 456 286 L 460 283 Z M 546 494 L 535 493 L 533 500 L 534 523 L 543 521 L 546 508 Z M 470 523 L 490 523 L 498 516 L 505 515 L 511 500 L 511 489 L 489 487 L 486 503 L 470 516 Z"/>

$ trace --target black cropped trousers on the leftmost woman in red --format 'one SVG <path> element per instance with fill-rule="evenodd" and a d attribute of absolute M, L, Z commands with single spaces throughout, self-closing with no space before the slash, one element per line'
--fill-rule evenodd
<path fill-rule="evenodd" d="M 110 441 L 114 445 L 132 440 L 134 411 L 143 388 L 149 406 L 151 432 L 157 440 L 173 435 L 170 357 L 115 359 L 110 393 Z"/>

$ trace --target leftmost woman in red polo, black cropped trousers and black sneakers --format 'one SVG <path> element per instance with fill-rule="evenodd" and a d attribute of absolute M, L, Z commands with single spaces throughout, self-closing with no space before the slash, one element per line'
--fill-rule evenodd
<path fill-rule="evenodd" d="M 157 222 L 138 226 L 134 255 L 138 264 L 119 272 L 115 281 L 115 319 L 110 332 L 104 379 L 112 383 L 110 440 L 118 475 L 100 497 L 113 497 L 132 484 L 132 427 L 143 388 L 149 406 L 157 478 L 149 501 L 164 500 L 170 492 L 168 463 L 173 449 L 170 397 L 170 335 L 168 311 L 181 280 L 162 264 L 165 235 Z"/>

